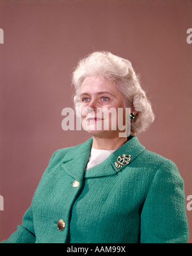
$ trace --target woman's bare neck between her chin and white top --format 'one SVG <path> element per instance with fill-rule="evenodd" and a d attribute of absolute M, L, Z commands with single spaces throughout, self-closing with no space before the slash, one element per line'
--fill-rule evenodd
<path fill-rule="evenodd" d="M 113 150 L 120 148 L 127 141 L 127 137 L 101 138 L 93 136 L 92 148 Z"/>

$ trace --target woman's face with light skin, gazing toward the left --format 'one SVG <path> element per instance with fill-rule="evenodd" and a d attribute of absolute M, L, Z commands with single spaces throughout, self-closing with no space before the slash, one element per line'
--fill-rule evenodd
<path fill-rule="evenodd" d="M 81 85 L 80 99 L 84 130 L 98 137 L 110 138 L 122 132 L 126 118 L 124 97 L 116 89 L 114 81 L 100 76 L 86 78 Z"/>

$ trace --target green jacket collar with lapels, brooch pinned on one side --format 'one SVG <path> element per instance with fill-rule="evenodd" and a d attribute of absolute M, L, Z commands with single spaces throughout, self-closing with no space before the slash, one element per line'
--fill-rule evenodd
<path fill-rule="evenodd" d="M 125 142 L 124 145 L 109 155 L 109 157 L 104 160 L 104 162 L 98 166 L 88 169 L 88 171 L 84 173 L 86 164 L 88 163 L 88 158 L 90 157 L 92 142 L 93 138 L 90 138 L 83 144 L 77 145 L 68 151 L 68 153 L 63 158 L 63 169 L 65 169 L 68 175 L 72 176 L 79 182 L 83 181 L 83 178 L 116 175 L 116 173 L 122 171 L 125 167 L 129 167 L 131 162 L 134 161 L 134 159 L 145 150 L 145 147 L 140 144 L 138 138 L 136 136 L 130 135 L 127 138 L 127 142 Z M 129 161 L 129 164 L 117 169 L 115 162 L 119 156 L 124 154 L 131 155 L 131 160 Z"/>

